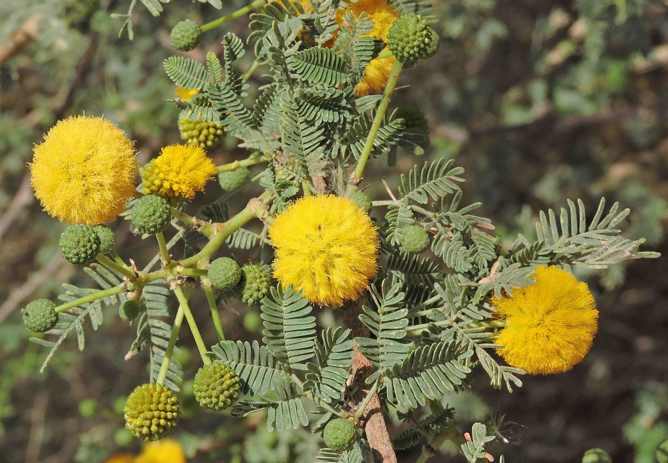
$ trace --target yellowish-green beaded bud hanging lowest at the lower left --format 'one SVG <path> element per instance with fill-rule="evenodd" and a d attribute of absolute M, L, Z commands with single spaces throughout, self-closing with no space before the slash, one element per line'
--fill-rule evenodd
<path fill-rule="evenodd" d="M 135 437 L 150 442 L 172 434 L 180 414 L 180 405 L 172 390 L 152 383 L 137 386 L 123 408 L 126 428 Z"/>

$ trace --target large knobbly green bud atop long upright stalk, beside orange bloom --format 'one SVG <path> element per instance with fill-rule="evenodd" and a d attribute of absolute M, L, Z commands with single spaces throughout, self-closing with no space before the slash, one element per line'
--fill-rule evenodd
<path fill-rule="evenodd" d="M 401 15 L 387 32 L 389 51 L 405 66 L 436 53 L 438 34 L 420 15 Z"/>

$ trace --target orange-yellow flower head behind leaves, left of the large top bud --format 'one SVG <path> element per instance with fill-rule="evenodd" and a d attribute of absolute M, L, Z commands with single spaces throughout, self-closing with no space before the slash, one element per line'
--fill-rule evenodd
<path fill-rule="evenodd" d="M 348 3 L 348 8 L 345 11 L 351 11 L 357 17 L 363 12 L 367 13 L 371 23 L 373 23 L 373 29 L 362 37 L 373 37 L 385 42 L 387 42 L 389 28 L 400 16 L 399 12 L 385 0 L 359 0 L 357 3 Z M 337 13 L 337 23 L 343 23 L 345 11 Z M 384 50 L 387 50 L 387 47 Z M 364 77 L 357 84 L 355 89 L 357 96 L 363 97 L 371 93 L 382 93 L 385 85 L 387 85 L 394 59 L 394 57 L 372 59 L 364 71 Z"/>

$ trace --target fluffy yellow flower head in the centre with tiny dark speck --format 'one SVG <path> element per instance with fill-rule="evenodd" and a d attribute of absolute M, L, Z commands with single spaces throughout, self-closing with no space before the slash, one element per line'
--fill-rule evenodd
<path fill-rule="evenodd" d="M 317 304 L 359 296 L 377 272 L 378 234 L 353 201 L 333 195 L 298 199 L 269 228 L 274 277 Z"/>

